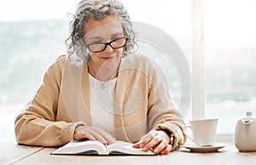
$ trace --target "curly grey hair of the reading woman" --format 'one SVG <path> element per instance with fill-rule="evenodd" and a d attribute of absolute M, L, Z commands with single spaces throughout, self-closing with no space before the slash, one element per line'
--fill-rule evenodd
<path fill-rule="evenodd" d="M 123 56 L 137 49 L 137 37 L 132 29 L 131 19 L 119 0 L 81 0 L 69 24 L 70 36 L 65 41 L 67 56 L 76 65 L 82 65 L 90 58 L 90 51 L 83 40 L 83 28 L 90 19 L 103 20 L 110 14 L 119 14 L 120 21 L 128 37 Z"/>

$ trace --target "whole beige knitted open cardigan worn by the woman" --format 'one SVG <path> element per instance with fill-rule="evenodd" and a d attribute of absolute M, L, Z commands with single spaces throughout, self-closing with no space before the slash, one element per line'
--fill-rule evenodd
<path fill-rule="evenodd" d="M 59 57 L 37 93 L 15 119 L 19 144 L 58 146 L 73 139 L 76 125 L 90 125 L 87 64 Z M 183 144 L 183 118 L 177 112 L 154 63 L 143 55 L 122 58 L 115 94 L 116 139 L 136 142 L 151 129 L 172 132 L 173 150 Z"/>

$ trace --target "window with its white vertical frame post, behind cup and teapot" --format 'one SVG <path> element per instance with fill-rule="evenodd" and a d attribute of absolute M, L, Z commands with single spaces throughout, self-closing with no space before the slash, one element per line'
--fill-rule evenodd
<path fill-rule="evenodd" d="M 256 2 L 192 2 L 192 116 L 218 117 L 218 134 L 232 135 L 246 111 L 255 114 Z"/>

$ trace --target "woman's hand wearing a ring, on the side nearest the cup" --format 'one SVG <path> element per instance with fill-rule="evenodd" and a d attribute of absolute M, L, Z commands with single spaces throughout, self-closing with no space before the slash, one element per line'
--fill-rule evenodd
<path fill-rule="evenodd" d="M 169 143 L 170 137 L 166 132 L 162 130 L 152 130 L 132 146 L 134 148 L 142 148 L 143 151 L 153 149 L 154 153 L 165 155 L 172 151 L 172 145 L 169 145 Z"/>

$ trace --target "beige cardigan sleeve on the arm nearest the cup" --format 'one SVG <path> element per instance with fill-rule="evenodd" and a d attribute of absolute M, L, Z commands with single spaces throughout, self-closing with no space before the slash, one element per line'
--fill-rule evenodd
<path fill-rule="evenodd" d="M 151 69 L 148 90 L 148 128 L 165 130 L 171 138 L 172 150 L 186 140 L 183 117 L 177 111 L 159 68 Z"/>

